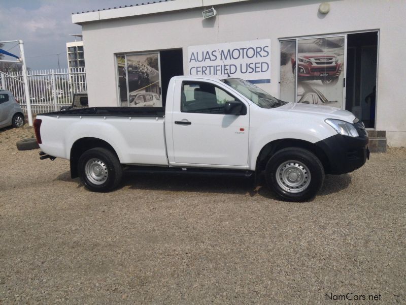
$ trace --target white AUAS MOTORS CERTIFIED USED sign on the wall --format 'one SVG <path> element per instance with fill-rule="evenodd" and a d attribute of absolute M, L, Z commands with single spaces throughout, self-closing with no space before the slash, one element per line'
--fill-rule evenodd
<path fill-rule="evenodd" d="M 188 71 L 270 83 L 270 39 L 190 46 Z"/>

